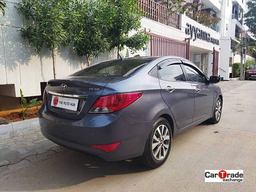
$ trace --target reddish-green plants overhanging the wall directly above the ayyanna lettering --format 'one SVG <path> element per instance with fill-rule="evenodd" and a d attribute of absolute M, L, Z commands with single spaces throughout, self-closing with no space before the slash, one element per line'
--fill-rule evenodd
<path fill-rule="evenodd" d="M 213 24 L 216 25 L 220 22 L 221 19 L 218 16 L 213 16 L 204 10 L 198 10 L 198 7 L 200 6 L 204 6 L 204 4 L 194 0 L 191 3 L 184 4 L 183 12 L 185 12 L 186 16 L 189 18 L 207 27 L 210 27 Z"/>

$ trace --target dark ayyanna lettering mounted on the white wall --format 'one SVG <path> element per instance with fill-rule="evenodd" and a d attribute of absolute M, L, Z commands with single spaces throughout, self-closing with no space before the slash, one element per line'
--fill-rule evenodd
<path fill-rule="evenodd" d="M 205 32 L 204 30 L 201 30 L 195 26 L 192 26 L 189 23 L 187 23 L 186 26 L 186 35 L 190 35 L 190 39 L 193 39 L 194 37 L 193 41 L 195 41 L 196 39 L 201 39 L 212 44 L 220 44 L 220 41 L 215 38 L 212 38 L 210 33 Z"/>

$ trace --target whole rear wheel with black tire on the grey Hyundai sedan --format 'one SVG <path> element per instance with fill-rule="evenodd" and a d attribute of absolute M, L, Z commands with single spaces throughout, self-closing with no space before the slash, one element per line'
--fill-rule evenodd
<path fill-rule="evenodd" d="M 171 145 L 171 126 L 166 118 L 160 117 L 154 123 L 148 136 L 144 154 L 142 155 L 142 163 L 151 168 L 161 166 L 169 156 Z"/>

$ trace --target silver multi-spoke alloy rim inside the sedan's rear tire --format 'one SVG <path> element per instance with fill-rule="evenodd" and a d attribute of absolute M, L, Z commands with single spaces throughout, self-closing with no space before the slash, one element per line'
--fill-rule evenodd
<path fill-rule="evenodd" d="M 156 160 L 162 160 L 170 146 L 170 133 L 165 125 L 156 128 L 152 140 L 152 152 Z"/>

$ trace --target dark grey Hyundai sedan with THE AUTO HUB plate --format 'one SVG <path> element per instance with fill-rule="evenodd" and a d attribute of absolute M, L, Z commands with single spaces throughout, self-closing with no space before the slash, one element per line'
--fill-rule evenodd
<path fill-rule="evenodd" d="M 172 138 L 220 121 L 222 93 L 192 62 L 174 56 L 109 60 L 50 80 L 39 110 L 42 134 L 107 161 L 141 156 L 156 168 Z"/>

